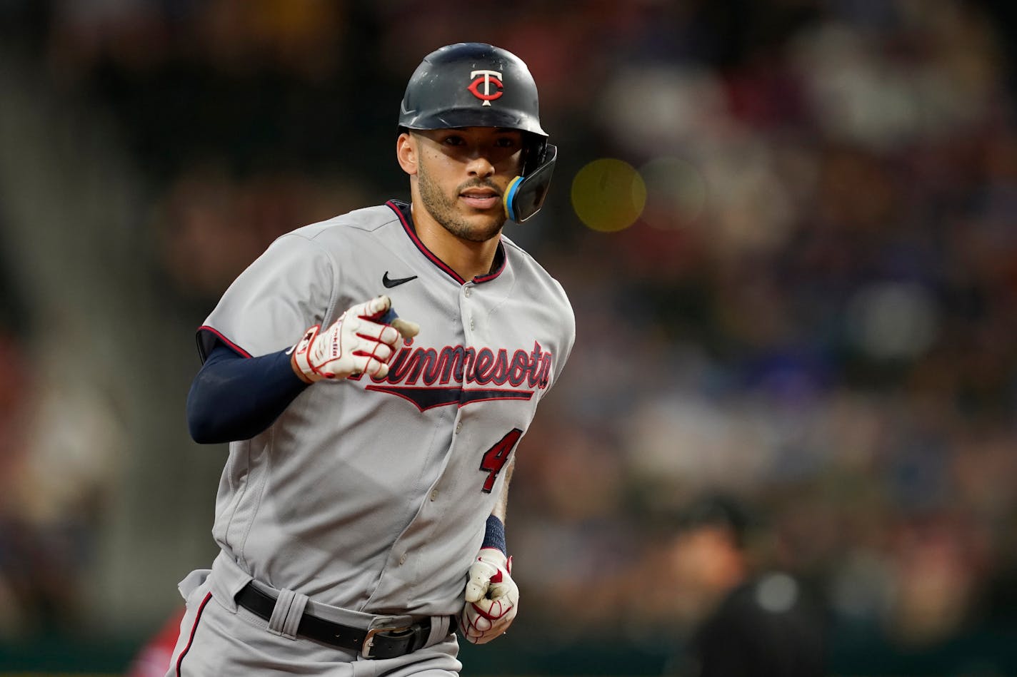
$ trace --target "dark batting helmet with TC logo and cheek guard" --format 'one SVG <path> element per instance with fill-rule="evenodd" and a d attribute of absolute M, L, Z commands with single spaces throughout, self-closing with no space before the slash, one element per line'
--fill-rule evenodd
<path fill-rule="evenodd" d="M 502 196 L 522 223 L 547 196 L 557 148 L 540 126 L 537 85 L 516 55 L 482 43 L 442 47 L 424 57 L 406 86 L 399 128 L 502 127 L 524 132 L 523 171 Z"/>

